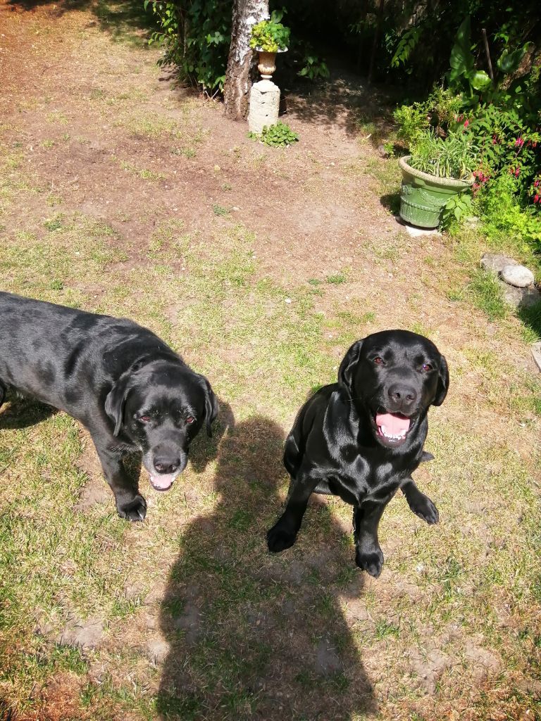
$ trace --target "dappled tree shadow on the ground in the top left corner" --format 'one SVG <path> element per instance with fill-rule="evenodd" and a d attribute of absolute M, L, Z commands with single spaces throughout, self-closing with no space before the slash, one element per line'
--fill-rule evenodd
<path fill-rule="evenodd" d="M 92 12 L 97 17 L 100 30 L 109 32 L 115 40 L 144 44 L 157 22 L 151 10 L 145 10 L 143 0 L 9 0 L 9 7 L 32 11 L 50 6 L 59 17 L 73 10 Z"/>

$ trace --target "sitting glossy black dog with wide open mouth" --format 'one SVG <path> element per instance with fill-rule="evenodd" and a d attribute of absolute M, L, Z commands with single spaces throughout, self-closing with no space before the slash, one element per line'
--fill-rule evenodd
<path fill-rule="evenodd" d="M 438 510 L 411 474 L 423 460 L 428 407 L 447 395 L 445 358 L 430 340 L 389 330 L 358 340 L 346 353 L 338 383 L 324 386 L 302 407 L 286 439 L 283 463 L 291 475 L 286 510 L 268 531 L 273 552 L 292 546 L 312 492 L 353 505 L 356 563 L 382 571 L 377 527 L 402 488 L 413 513 L 437 523 Z"/>

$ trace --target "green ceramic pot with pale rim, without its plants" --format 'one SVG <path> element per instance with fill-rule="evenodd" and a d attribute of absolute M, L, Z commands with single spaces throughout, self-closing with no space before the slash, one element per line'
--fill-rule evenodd
<path fill-rule="evenodd" d="M 408 165 L 410 157 L 406 155 L 398 161 L 402 169 L 400 218 L 419 228 L 437 228 L 447 200 L 471 187 L 473 180 L 440 178 L 423 173 Z"/>

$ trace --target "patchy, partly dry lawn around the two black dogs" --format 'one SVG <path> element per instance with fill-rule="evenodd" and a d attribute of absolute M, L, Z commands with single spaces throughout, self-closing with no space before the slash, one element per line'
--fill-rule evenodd
<path fill-rule="evenodd" d="M 151 327 L 221 420 L 170 492 L 141 477 L 129 525 L 80 425 L 2 407 L 0 717 L 540 719 L 541 386 L 532 330 L 481 302 L 482 242 L 400 230 L 358 84 L 292 94 L 301 141 L 268 149 L 175 88 L 141 21 L 0 7 L 0 288 Z M 271 556 L 296 410 L 390 327 L 451 369 L 416 474 L 441 523 L 397 497 L 373 580 L 351 509 L 315 498 Z"/>

